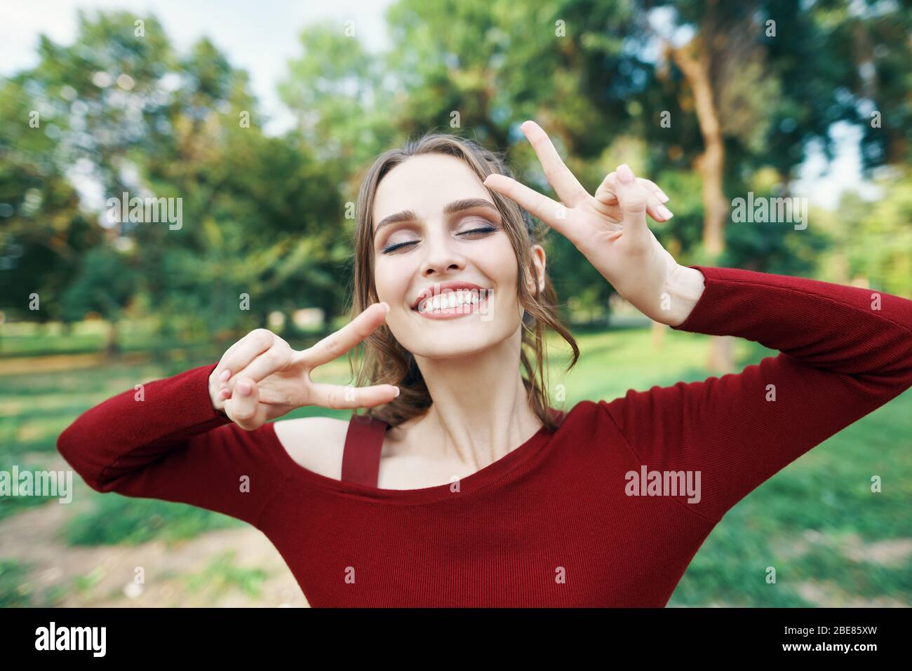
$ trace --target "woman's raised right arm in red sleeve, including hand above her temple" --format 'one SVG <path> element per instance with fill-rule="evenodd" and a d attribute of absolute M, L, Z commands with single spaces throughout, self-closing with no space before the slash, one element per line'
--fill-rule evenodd
<path fill-rule="evenodd" d="M 574 243 L 651 319 L 782 352 L 740 375 L 599 402 L 649 470 L 700 471 L 691 511 L 719 521 L 763 480 L 912 385 L 912 302 L 880 294 L 878 305 L 867 290 L 783 275 L 684 270 L 648 229 L 647 214 L 672 216 L 656 184 L 620 165 L 589 195 L 543 129 L 521 128 L 561 202 L 504 175 L 485 186 Z"/>

